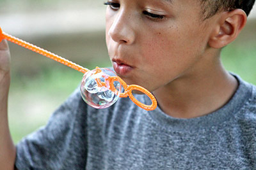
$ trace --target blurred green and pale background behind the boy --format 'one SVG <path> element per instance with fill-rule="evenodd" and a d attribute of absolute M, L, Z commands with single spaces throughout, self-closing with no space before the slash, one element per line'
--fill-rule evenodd
<path fill-rule="evenodd" d="M 0 25 L 5 32 L 19 36 L 81 66 L 89 69 L 95 66 L 109 67 L 111 63 L 105 45 L 104 26 L 101 25 L 102 20 L 93 18 L 99 15 L 98 17 L 104 20 L 103 3 L 104 1 L 92 0 L 1 0 Z M 83 13 L 86 10 L 90 13 Z M 68 17 L 61 15 L 63 17 L 56 18 L 56 21 L 55 15 L 45 18 L 47 13 L 52 11 L 69 14 Z M 78 11 L 78 14 L 70 15 L 74 11 Z M 28 16 L 36 16 L 38 19 L 36 22 L 28 22 Z M 54 24 L 46 26 L 48 20 L 60 27 L 54 27 Z M 66 21 L 68 26 L 74 25 L 73 22 L 69 23 L 70 20 L 76 20 L 76 24 L 79 24 L 67 31 L 61 24 Z M 29 26 L 23 28 L 25 31 L 22 30 L 26 24 L 37 23 L 42 24 L 40 34 L 28 30 Z M 9 45 L 12 54 L 9 123 L 13 140 L 17 143 L 26 134 L 46 124 L 51 113 L 77 88 L 83 74 L 20 46 L 12 43 Z M 229 71 L 256 85 L 256 17 L 250 17 L 239 38 L 223 49 L 221 59 Z"/>

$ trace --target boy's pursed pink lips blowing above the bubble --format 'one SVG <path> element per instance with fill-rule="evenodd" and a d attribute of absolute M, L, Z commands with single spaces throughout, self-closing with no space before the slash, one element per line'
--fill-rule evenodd
<path fill-rule="evenodd" d="M 113 62 L 113 68 L 115 69 L 116 74 L 120 76 L 125 76 L 129 72 L 132 71 L 133 67 L 126 64 L 125 62 L 122 62 L 122 60 L 112 60 Z"/>

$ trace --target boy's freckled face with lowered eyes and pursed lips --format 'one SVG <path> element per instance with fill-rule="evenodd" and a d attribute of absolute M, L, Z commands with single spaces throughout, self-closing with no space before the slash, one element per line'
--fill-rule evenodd
<path fill-rule="evenodd" d="M 198 0 L 108 1 L 106 43 L 118 76 L 148 90 L 186 76 L 211 31 Z"/>

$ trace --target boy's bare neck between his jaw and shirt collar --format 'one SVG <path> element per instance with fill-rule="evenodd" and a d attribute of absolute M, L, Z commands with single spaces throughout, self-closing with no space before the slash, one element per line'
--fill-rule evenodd
<path fill-rule="evenodd" d="M 154 91 L 164 113 L 177 118 L 207 115 L 227 103 L 237 89 L 236 78 L 220 62 L 196 72 L 183 74 Z"/>

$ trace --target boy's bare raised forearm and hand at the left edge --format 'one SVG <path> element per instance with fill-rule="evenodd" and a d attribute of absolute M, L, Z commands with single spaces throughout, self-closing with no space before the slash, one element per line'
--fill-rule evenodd
<path fill-rule="evenodd" d="M 5 40 L 0 43 L 0 169 L 13 169 L 15 146 L 8 127 L 7 103 L 10 87 L 10 52 Z"/>

